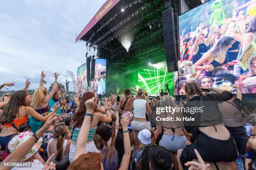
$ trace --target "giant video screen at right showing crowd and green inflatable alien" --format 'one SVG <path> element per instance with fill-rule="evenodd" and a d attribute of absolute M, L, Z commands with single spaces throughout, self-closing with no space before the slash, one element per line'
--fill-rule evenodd
<path fill-rule="evenodd" d="M 209 0 L 179 17 L 175 95 L 185 95 L 187 82 L 256 93 L 255 7 L 255 0 Z"/>

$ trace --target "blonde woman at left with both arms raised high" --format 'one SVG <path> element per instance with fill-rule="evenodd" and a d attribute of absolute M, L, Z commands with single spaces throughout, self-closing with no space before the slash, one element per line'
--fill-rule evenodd
<path fill-rule="evenodd" d="M 36 91 L 33 94 L 33 98 L 32 98 L 32 105 L 33 108 L 36 110 L 36 112 L 38 112 L 39 114 L 45 116 L 46 113 L 50 110 L 50 106 L 48 104 L 49 100 L 51 99 L 51 97 L 53 97 L 54 92 L 56 91 L 57 85 L 58 85 L 58 74 L 57 72 L 54 73 L 54 84 L 52 87 L 51 92 L 48 94 L 48 91 L 46 89 L 46 87 L 44 87 L 44 71 L 41 72 L 41 81 L 40 81 L 40 85 L 38 87 L 38 89 L 36 89 Z M 29 117 L 29 125 L 31 125 L 32 127 L 32 131 L 36 132 L 42 125 L 42 122 L 38 119 L 36 119 L 35 117 Z"/>

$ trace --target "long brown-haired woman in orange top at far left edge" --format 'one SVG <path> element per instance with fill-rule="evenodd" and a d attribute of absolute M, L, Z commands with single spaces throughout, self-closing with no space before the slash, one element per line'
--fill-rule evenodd
<path fill-rule="evenodd" d="M 4 128 L 0 133 L 1 150 L 5 150 L 6 145 L 13 135 L 28 130 L 28 115 L 45 122 L 46 119 L 55 112 L 53 111 L 46 116 L 42 116 L 32 107 L 27 106 L 30 101 L 31 96 L 26 92 L 26 90 L 19 90 L 13 92 L 11 95 L 8 104 L 5 106 L 0 117 L 0 123 L 4 125 Z"/>

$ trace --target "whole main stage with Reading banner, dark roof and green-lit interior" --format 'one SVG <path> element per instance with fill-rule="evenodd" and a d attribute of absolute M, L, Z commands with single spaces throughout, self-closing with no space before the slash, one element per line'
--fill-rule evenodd
<path fill-rule="evenodd" d="M 173 73 L 163 62 L 165 7 L 164 0 L 108 0 L 78 35 L 107 60 L 106 93 L 140 87 L 156 94 L 159 79 L 173 93 Z"/>

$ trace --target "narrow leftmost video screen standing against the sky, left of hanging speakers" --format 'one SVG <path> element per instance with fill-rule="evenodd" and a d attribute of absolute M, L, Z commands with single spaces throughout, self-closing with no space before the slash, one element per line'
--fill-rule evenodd
<path fill-rule="evenodd" d="M 86 64 L 77 68 L 77 91 L 82 93 L 87 91 L 87 75 L 86 75 Z"/>

